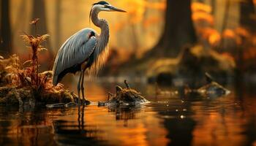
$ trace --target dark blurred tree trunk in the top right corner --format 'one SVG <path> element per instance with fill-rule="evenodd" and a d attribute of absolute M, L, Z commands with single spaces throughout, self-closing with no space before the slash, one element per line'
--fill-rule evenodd
<path fill-rule="evenodd" d="M 240 2 L 240 25 L 248 31 L 256 31 L 256 20 L 252 16 L 255 15 L 255 7 L 252 0 L 244 0 Z"/>

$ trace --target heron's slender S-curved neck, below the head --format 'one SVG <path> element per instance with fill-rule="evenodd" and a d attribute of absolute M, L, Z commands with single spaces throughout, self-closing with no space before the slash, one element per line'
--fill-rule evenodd
<path fill-rule="evenodd" d="M 107 20 L 100 19 L 98 17 L 99 10 L 92 9 L 91 12 L 91 21 L 94 23 L 95 26 L 99 27 L 101 29 L 99 39 L 104 43 L 106 46 L 108 44 L 109 39 L 109 26 Z"/>

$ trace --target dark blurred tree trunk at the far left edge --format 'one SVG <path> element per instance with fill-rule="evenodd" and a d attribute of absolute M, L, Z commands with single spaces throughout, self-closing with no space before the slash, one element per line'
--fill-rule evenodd
<path fill-rule="evenodd" d="M 1 0 L 0 51 L 7 56 L 12 52 L 12 34 L 10 24 L 10 1 Z"/>

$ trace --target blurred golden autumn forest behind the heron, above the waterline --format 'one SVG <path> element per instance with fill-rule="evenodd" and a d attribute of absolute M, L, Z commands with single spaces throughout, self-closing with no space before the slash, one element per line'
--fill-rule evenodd
<path fill-rule="evenodd" d="M 20 34 L 49 34 L 42 69 L 52 69 L 61 44 L 89 23 L 85 0 L 1 0 L 1 55 L 28 59 Z M 256 82 L 255 0 L 108 1 L 127 14 L 101 12 L 110 25 L 110 56 L 100 76 L 131 77 L 163 85 L 189 84 L 209 72 L 223 82 Z M 176 82 L 176 79 L 178 80 Z M 192 80 L 191 80 L 192 78 Z"/>

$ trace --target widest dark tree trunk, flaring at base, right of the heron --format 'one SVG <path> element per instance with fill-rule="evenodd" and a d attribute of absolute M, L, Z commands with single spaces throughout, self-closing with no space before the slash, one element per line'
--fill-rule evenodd
<path fill-rule="evenodd" d="M 195 42 L 191 0 L 167 0 L 164 32 L 152 51 L 154 54 L 160 53 L 160 55 L 174 57 L 178 55 L 181 47 Z"/>

